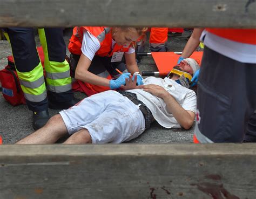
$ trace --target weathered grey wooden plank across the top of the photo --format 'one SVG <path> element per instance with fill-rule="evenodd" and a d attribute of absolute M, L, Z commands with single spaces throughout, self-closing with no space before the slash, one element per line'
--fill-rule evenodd
<path fill-rule="evenodd" d="M 4 26 L 256 28 L 254 0 L 1 0 Z"/>

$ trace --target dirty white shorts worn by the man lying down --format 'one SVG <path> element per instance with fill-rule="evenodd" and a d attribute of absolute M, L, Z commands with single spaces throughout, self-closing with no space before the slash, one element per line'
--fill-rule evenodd
<path fill-rule="evenodd" d="M 91 95 L 59 114 L 70 135 L 85 128 L 92 143 L 121 143 L 145 131 L 139 107 L 116 91 Z"/>

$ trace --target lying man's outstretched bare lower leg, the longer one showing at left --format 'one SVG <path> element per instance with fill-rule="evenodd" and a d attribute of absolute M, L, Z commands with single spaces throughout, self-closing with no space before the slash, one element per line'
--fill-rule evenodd
<path fill-rule="evenodd" d="M 59 138 L 66 135 L 67 132 L 68 130 L 66 129 L 62 117 L 60 114 L 57 114 L 50 118 L 45 126 L 26 136 L 26 138 L 16 142 L 16 144 L 25 145 L 55 143 Z"/>

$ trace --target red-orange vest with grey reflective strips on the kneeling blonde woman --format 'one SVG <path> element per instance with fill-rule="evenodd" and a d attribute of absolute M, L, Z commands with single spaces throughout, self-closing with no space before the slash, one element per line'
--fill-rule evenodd
<path fill-rule="evenodd" d="M 129 47 L 120 46 L 118 44 L 114 45 L 113 50 L 112 46 L 112 28 L 109 27 L 92 27 L 92 26 L 76 26 L 73 28 L 73 35 L 69 40 L 69 51 L 73 54 L 80 55 L 82 53 L 82 41 L 83 41 L 83 31 L 87 30 L 93 36 L 95 36 L 100 43 L 100 49 L 96 52 L 97 56 L 100 57 L 111 57 L 114 52 L 127 52 Z"/>

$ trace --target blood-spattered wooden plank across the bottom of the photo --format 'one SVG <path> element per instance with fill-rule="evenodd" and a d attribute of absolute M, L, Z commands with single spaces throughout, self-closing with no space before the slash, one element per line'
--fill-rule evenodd
<path fill-rule="evenodd" d="M 255 144 L 3 145 L 0 198 L 254 198 Z"/>

